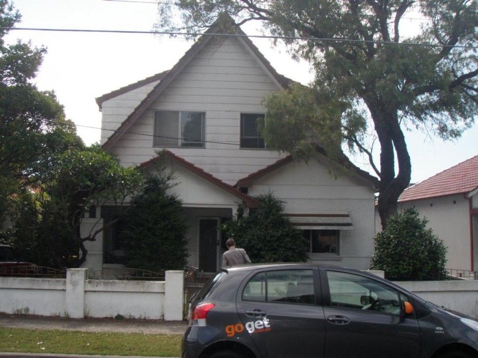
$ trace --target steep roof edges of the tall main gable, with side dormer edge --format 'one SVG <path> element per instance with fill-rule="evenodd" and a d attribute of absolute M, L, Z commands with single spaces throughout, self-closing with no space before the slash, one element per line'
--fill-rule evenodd
<path fill-rule="evenodd" d="M 277 71 L 272 67 L 271 63 L 267 61 L 259 51 L 259 49 L 252 43 L 252 41 L 246 36 L 245 32 L 241 30 L 241 28 L 234 22 L 234 20 L 227 14 L 223 14 L 210 28 L 204 31 L 205 35 L 202 35 L 194 45 L 186 51 L 183 57 L 173 66 L 173 68 L 164 75 L 161 76 L 161 81 L 151 90 L 150 93 L 146 95 L 146 97 L 141 101 L 141 103 L 130 113 L 130 115 L 121 123 L 119 128 L 117 128 L 117 132 L 114 132 L 105 143 L 103 143 L 102 148 L 108 150 L 112 147 L 112 145 L 122 137 L 125 131 L 144 113 L 144 111 L 158 98 L 161 92 L 172 82 L 172 80 L 183 70 L 187 64 L 193 59 L 193 57 L 201 51 L 204 46 L 214 38 L 214 35 L 207 35 L 207 34 L 236 34 L 242 35 L 244 37 L 238 37 L 240 41 L 243 41 L 250 50 L 258 57 L 260 62 L 266 68 L 268 72 L 273 76 L 273 78 L 278 82 L 278 84 L 282 88 L 287 88 L 290 83 L 293 81 L 285 76 L 282 76 L 277 73 Z M 161 73 L 163 74 L 163 73 Z M 160 74 L 158 74 L 159 76 Z M 155 75 L 156 76 L 156 75 Z M 154 76 L 153 76 L 154 77 Z M 130 85 L 130 86 L 134 86 Z M 123 87 L 123 88 L 127 88 Z M 110 92 L 108 94 L 114 93 L 116 91 Z M 117 90 L 118 94 L 123 93 L 123 89 L 120 88 Z M 105 97 L 106 99 L 112 98 L 108 97 L 108 94 L 105 94 L 98 99 L 102 99 Z M 98 103 L 97 99 L 97 103 Z M 105 101 L 103 99 L 103 101 Z"/>

